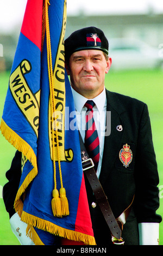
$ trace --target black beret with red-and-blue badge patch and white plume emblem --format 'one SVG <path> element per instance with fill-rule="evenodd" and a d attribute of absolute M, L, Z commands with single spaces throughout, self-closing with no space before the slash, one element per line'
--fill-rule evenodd
<path fill-rule="evenodd" d="M 101 29 L 82 28 L 68 36 L 65 40 L 65 59 L 68 61 L 73 52 L 88 49 L 101 50 L 108 54 L 109 43 Z"/>

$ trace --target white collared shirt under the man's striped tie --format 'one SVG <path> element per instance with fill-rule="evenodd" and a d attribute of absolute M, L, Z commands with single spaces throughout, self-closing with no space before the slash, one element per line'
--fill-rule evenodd
<path fill-rule="evenodd" d="M 72 88 L 72 94 L 74 99 L 74 105 L 76 108 L 77 114 L 77 123 L 78 130 L 82 136 L 84 141 L 85 137 L 85 114 L 87 108 L 84 106 L 86 101 L 88 100 L 86 97 L 80 95 Z M 89 99 L 91 100 L 91 99 Z M 103 157 L 103 149 L 104 149 L 104 138 L 105 138 L 105 123 L 106 123 L 106 92 L 105 89 L 101 94 L 92 99 L 95 102 L 95 106 L 93 107 L 93 118 L 95 120 L 96 129 L 99 138 L 99 163 L 97 168 L 97 176 L 99 178 L 99 174 L 101 172 L 102 166 L 102 157 Z"/>

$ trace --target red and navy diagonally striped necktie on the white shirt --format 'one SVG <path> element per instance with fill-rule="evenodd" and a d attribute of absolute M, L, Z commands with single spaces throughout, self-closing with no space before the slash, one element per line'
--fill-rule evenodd
<path fill-rule="evenodd" d="M 92 100 L 87 100 L 84 106 L 87 107 L 85 116 L 86 131 L 84 144 L 87 153 L 95 164 L 94 168 L 97 170 L 99 162 L 99 138 L 96 130 L 95 120 L 93 119 L 93 107 L 95 106 L 95 102 Z"/>

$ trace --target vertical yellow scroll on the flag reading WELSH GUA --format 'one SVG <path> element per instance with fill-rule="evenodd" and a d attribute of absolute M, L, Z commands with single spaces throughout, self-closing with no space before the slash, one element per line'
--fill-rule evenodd
<path fill-rule="evenodd" d="M 72 149 L 65 149 L 65 48 L 64 48 L 64 36 L 66 27 L 66 5 L 64 7 L 64 19 L 62 23 L 61 36 L 59 41 L 58 52 L 55 60 L 55 66 L 53 71 L 54 80 L 54 97 L 55 97 L 55 112 L 51 113 L 51 105 L 49 102 L 49 142 L 51 148 L 52 158 L 52 132 L 54 132 L 54 149 L 55 160 L 58 161 L 57 154 L 57 135 L 58 131 L 58 143 L 60 151 L 60 161 L 70 162 L 73 159 Z"/>

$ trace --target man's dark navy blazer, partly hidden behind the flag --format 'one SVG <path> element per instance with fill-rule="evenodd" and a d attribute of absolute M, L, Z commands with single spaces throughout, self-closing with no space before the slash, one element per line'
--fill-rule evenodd
<path fill-rule="evenodd" d="M 151 124 L 147 105 L 129 96 L 106 90 L 107 107 L 111 113 L 111 133 L 105 136 L 102 169 L 99 181 L 103 186 L 115 217 L 129 206 L 133 208 L 124 224 L 122 237 L 125 245 L 138 245 L 139 222 L 161 222 L 156 214 L 159 208 L 159 176 L 152 142 Z M 122 125 L 122 131 L 117 126 Z M 128 144 L 132 160 L 128 167 L 120 160 L 123 145 Z M 21 153 L 16 151 L 11 168 L 6 174 L 9 182 L 3 188 L 3 199 L 10 217 L 14 214 L 14 200 L 21 178 Z M 101 210 L 92 208 L 96 202 L 85 178 L 91 220 L 97 245 L 111 245 L 110 230 Z"/>

